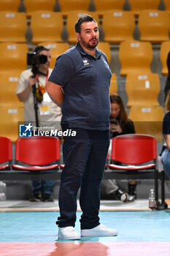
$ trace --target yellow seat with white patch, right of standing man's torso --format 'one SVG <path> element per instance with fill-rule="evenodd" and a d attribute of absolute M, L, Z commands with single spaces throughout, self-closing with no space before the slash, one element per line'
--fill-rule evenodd
<path fill-rule="evenodd" d="M 128 95 L 127 107 L 159 106 L 158 94 L 161 90 L 158 74 L 129 74 L 125 80 L 125 91 Z"/>

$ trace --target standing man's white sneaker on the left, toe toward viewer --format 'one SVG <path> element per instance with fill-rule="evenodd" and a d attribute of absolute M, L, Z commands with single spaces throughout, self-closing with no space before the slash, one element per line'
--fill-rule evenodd
<path fill-rule="evenodd" d="M 80 239 L 80 234 L 74 227 L 58 227 L 58 239 L 77 240 Z"/>

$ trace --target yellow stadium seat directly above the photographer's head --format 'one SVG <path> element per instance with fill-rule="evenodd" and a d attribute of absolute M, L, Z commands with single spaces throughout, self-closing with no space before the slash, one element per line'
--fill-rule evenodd
<path fill-rule="evenodd" d="M 32 42 L 62 42 L 63 17 L 61 12 L 37 11 L 31 16 Z"/>

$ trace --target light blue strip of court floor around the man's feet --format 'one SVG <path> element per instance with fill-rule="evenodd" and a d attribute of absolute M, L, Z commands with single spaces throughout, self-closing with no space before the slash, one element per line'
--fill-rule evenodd
<path fill-rule="evenodd" d="M 78 232 L 80 215 L 77 212 Z M 58 212 L 51 211 L 0 212 L 0 242 L 57 241 L 58 216 Z M 170 241 L 170 211 L 102 211 L 100 218 L 104 225 L 117 229 L 118 236 L 81 241 Z"/>

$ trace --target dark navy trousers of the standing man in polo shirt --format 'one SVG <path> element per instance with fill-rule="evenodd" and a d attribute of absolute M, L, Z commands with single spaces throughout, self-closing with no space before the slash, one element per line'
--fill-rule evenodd
<path fill-rule="evenodd" d="M 62 127 L 63 130 L 66 126 Z M 77 192 L 80 189 L 81 229 L 100 224 L 100 185 L 109 148 L 109 130 L 72 129 L 75 137 L 64 138 L 63 160 L 59 190 L 60 217 L 58 227 L 75 225 Z"/>

